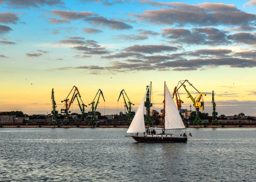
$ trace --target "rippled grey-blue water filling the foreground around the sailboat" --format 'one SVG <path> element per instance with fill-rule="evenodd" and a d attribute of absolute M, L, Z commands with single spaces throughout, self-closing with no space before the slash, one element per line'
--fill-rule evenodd
<path fill-rule="evenodd" d="M 256 181 L 256 128 L 188 129 L 136 143 L 126 129 L 1 128 L 1 181 Z"/>

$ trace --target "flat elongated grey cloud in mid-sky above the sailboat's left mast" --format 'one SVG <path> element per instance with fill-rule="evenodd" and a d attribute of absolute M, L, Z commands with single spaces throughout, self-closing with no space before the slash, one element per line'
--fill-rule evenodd
<path fill-rule="evenodd" d="M 175 51 L 177 47 L 167 46 L 167 45 L 133 45 L 126 47 L 124 50 L 128 52 L 143 52 L 143 53 L 155 53 L 164 51 Z"/>

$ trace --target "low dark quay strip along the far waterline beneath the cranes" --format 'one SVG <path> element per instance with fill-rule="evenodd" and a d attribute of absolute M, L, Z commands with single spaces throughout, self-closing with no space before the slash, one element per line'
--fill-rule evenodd
<path fill-rule="evenodd" d="M 0 125 L 0 128 L 128 128 L 128 125 Z M 152 127 L 162 128 L 162 125 Z M 239 128 L 239 127 L 256 127 L 256 125 L 187 125 L 186 128 Z"/>

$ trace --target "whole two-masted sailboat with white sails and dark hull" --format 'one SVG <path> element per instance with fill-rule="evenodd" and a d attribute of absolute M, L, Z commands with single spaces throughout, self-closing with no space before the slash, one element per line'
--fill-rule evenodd
<path fill-rule="evenodd" d="M 148 87 L 149 89 L 149 87 Z M 135 135 L 131 135 L 134 140 L 137 142 L 187 142 L 187 135 L 184 133 L 183 135 L 174 135 L 171 133 L 166 133 L 166 130 L 175 130 L 175 129 L 185 129 L 182 118 L 179 115 L 179 111 L 174 103 L 172 95 L 164 82 L 164 130 L 160 134 L 145 134 L 146 128 L 144 123 L 144 101 L 146 98 L 146 94 L 148 89 L 141 101 L 138 110 L 133 117 L 131 125 L 129 126 L 127 133 L 135 133 Z M 148 130 L 149 131 L 149 130 Z M 139 136 L 139 133 L 143 133 L 143 135 Z M 130 136 L 130 135 L 129 135 Z"/>

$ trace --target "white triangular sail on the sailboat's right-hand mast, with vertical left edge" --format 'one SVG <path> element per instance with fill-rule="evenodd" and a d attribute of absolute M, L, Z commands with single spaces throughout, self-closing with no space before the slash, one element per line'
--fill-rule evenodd
<path fill-rule="evenodd" d="M 164 98 L 164 102 L 165 102 L 164 127 L 165 127 L 165 129 L 166 130 L 185 129 L 182 118 L 179 115 L 177 106 L 175 105 L 172 95 L 171 95 L 166 84 L 164 85 L 164 91 L 165 91 L 165 98 Z"/>

